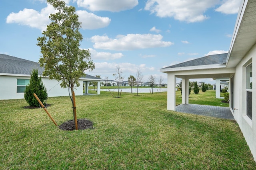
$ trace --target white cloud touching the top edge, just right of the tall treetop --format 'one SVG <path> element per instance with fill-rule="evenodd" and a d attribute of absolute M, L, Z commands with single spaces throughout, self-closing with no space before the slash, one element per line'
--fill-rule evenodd
<path fill-rule="evenodd" d="M 138 5 L 138 0 L 76 0 L 78 7 L 90 11 L 119 12 L 130 10 Z"/>

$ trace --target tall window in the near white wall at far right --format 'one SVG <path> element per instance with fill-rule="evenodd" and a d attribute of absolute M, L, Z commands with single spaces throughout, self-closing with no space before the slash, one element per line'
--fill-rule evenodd
<path fill-rule="evenodd" d="M 252 119 L 252 63 L 246 66 L 246 115 Z"/>

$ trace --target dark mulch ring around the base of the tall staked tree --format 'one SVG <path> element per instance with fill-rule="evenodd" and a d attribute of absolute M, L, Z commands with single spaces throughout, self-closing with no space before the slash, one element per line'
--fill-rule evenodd
<path fill-rule="evenodd" d="M 77 125 L 79 130 L 93 128 L 92 121 L 88 119 L 77 119 Z M 75 126 L 74 120 L 69 120 L 59 125 L 59 128 L 64 131 L 73 131 L 76 129 L 76 126 Z"/>

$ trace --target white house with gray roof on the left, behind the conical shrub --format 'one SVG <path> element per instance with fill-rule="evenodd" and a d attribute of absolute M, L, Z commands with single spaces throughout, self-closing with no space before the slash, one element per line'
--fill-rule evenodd
<path fill-rule="evenodd" d="M 39 63 L 0 54 L 0 100 L 24 98 L 24 90 L 29 83 L 33 69 L 38 69 L 38 74 L 42 75 L 43 68 L 40 67 Z M 85 77 L 80 78 L 80 86 L 75 89 L 75 95 L 83 95 L 83 90 L 88 93 L 88 85 L 92 81 L 98 82 L 98 89 L 100 89 L 101 80 L 86 74 Z M 42 77 L 42 82 L 47 90 L 48 97 L 69 96 L 68 89 L 61 88 L 60 82 L 57 80 Z M 97 92 L 100 94 L 100 90 Z"/>

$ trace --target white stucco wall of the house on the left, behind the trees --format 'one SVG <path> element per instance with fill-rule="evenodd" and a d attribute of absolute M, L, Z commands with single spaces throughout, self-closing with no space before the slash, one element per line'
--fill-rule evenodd
<path fill-rule="evenodd" d="M 24 93 L 17 93 L 17 79 L 30 79 L 29 76 L 3 76 L 0 75 L 0 100 L 23 99 Z M 69 96 L 68 88 L 60 88 L 57 80 L 49 80 L 42 77 L 42 82 L 47 90 L 48 97 Z M 75 90 L 75 95 L 83 95 L 83 80 L 80 80 L 80 87 Z M 70 92 L 71 94 L 71 92 Z"/>

